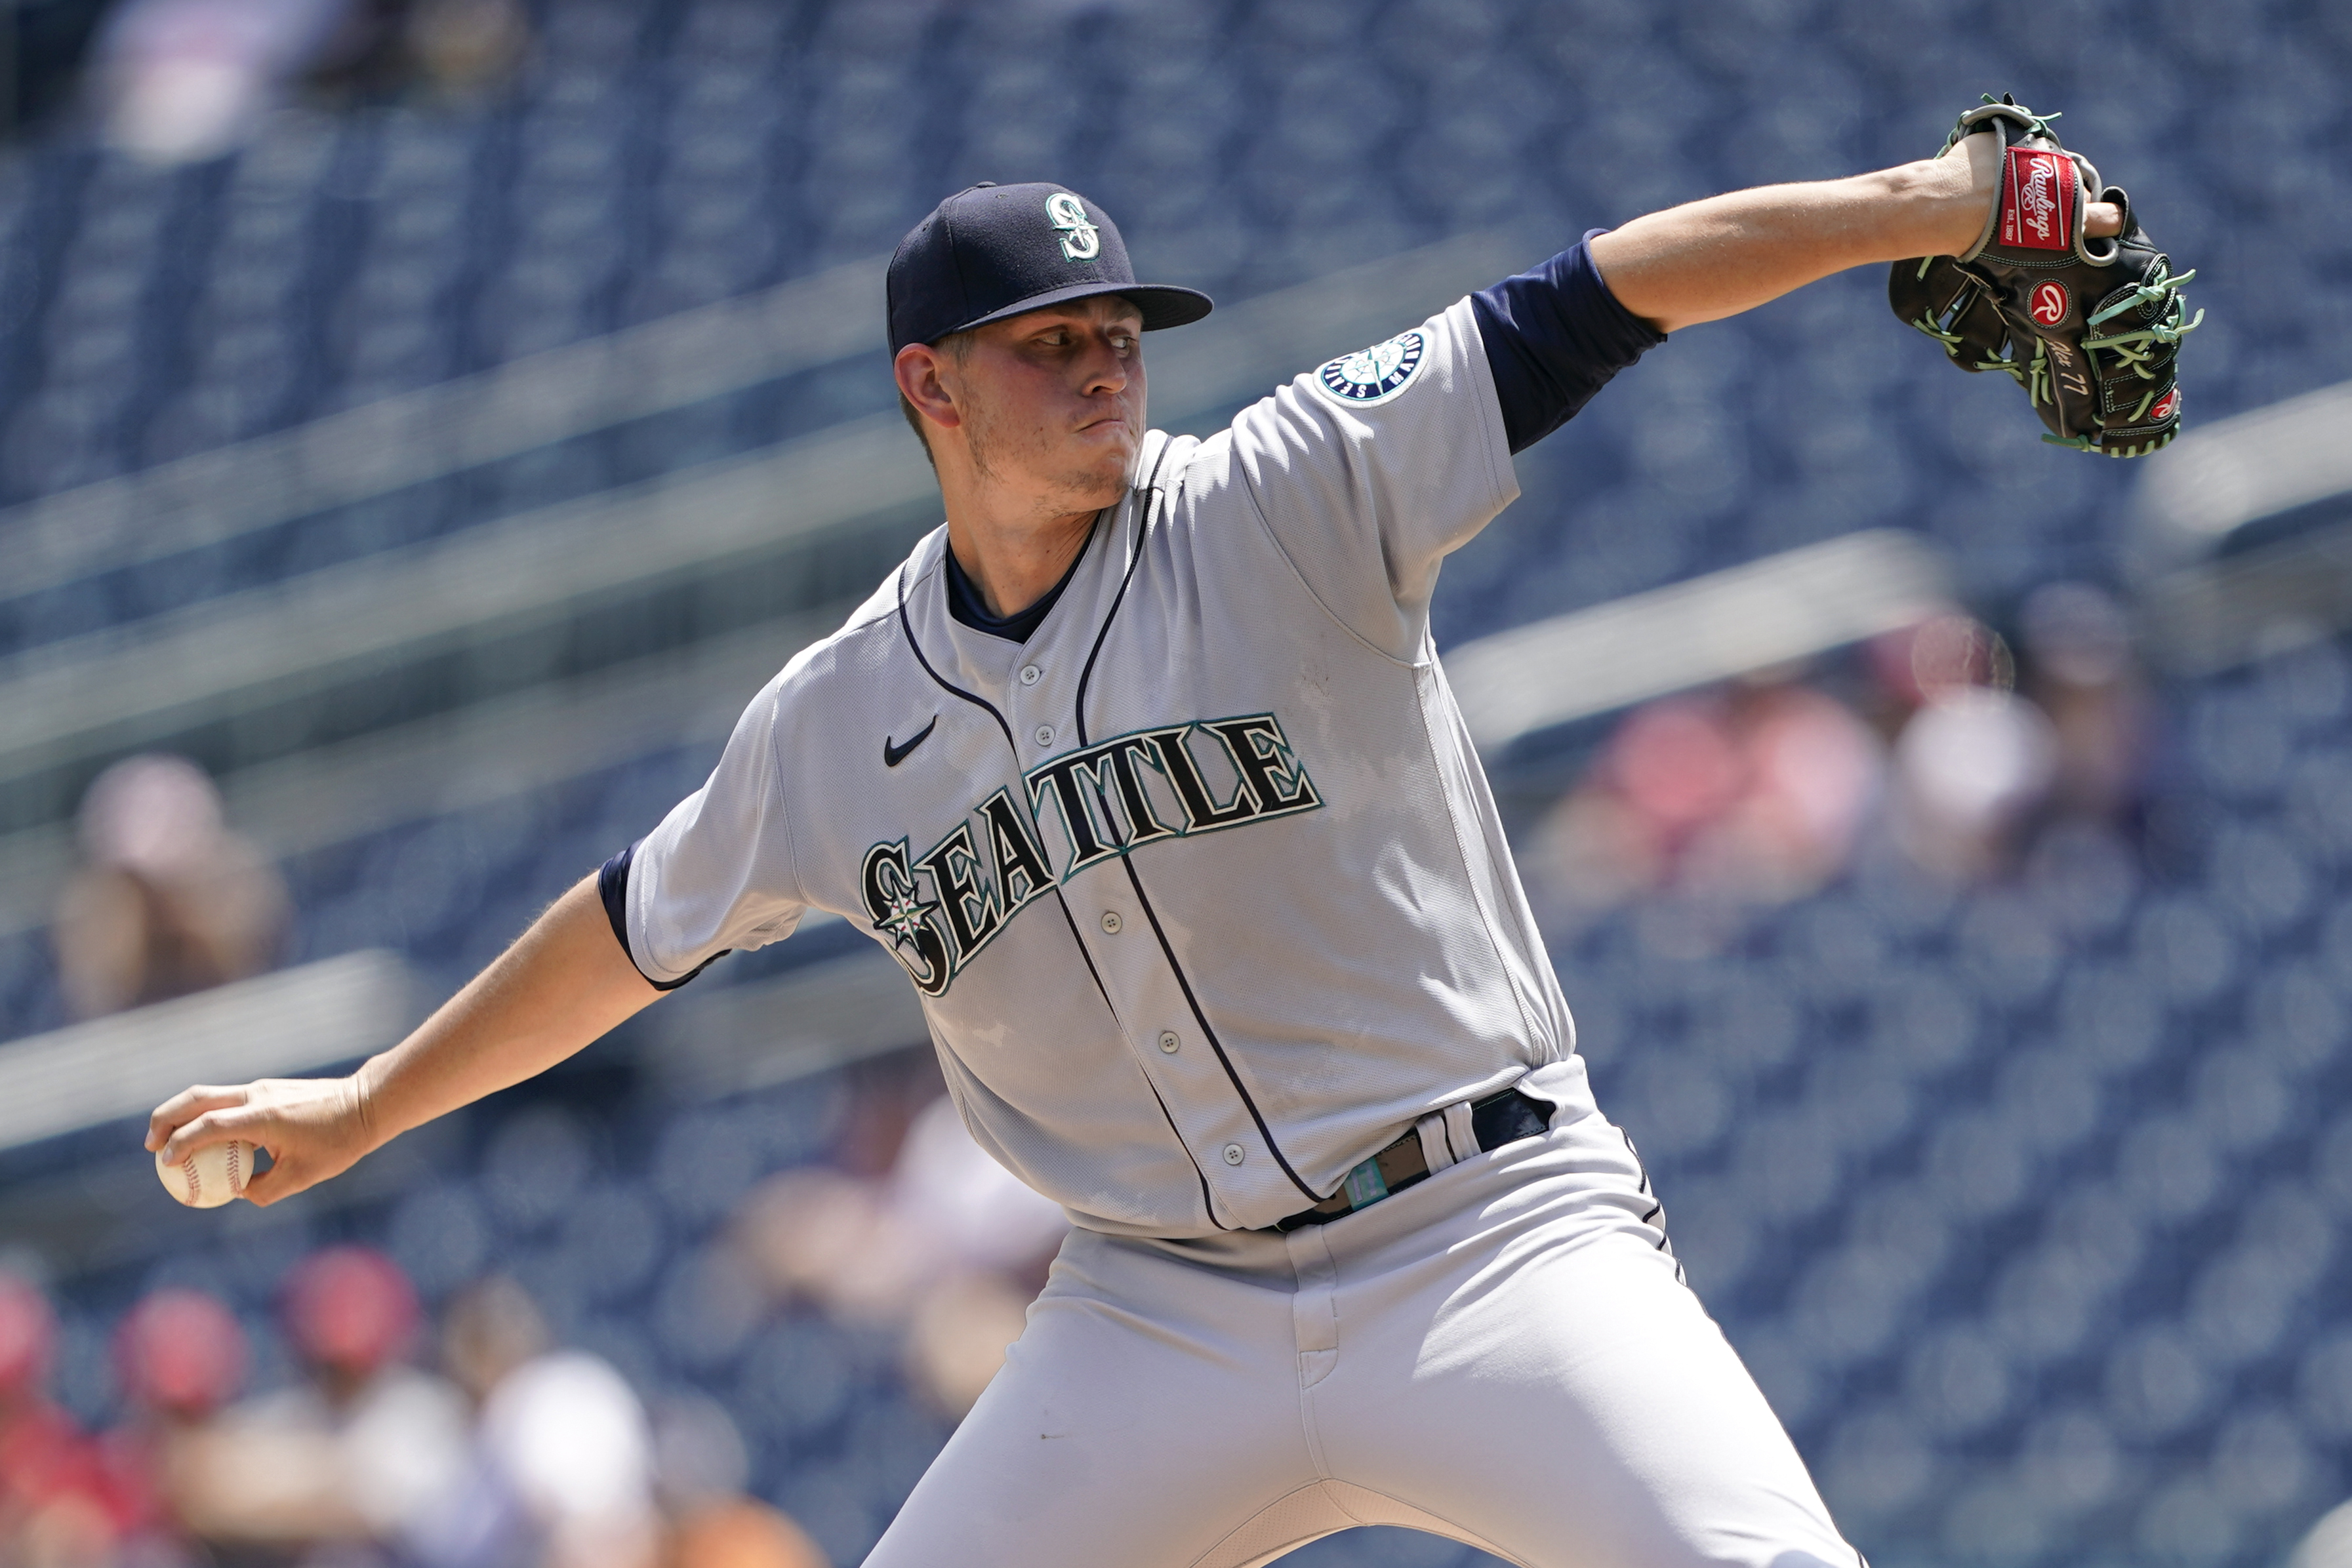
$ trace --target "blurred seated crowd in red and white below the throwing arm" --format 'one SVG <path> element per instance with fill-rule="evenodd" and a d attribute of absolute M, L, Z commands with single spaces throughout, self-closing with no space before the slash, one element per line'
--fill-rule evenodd
<path fill-rule="evenodd" d="M 786 1429 L 837 1418 L 858 1373 L 891 1378 L 920 1401 L 896 1439 L 903 1486 L 1021 1333 L 1063 1220 L 908 1074 L 844 1110 L 840 1161 L 753 1185 L 656 1314 L 666 1349 L 701 1368 L 776 1319 L 746 1371 L 767 1389 L 753 1408 Z M 510 1124 L 492 1211 L 560 1206 L 579 1145 L 553 1110 Z M 861 1175 L 877 1150 L 894 1161 Z M 699 1190 L 703 1140 L 666 1154 L 670 1190 Z M 628 1342 L 593 1349 L 583 1298 L 649 1272 L 661 1215 L 600 1192 L 567 1220 L 564 1262 L 517 1272 L 485 1255 L 485 1218 L 447 1192 L 412 1201 L 393 1253 L 303 1251 L 259 1314 L 238 1309 L 252 1291 L 151 1281 L 103 1345 L 59 1324 L 24 1272 L 0 1274 L 5 1561 L 823 1568 L 826 1549 L 748 1490 L 753 1448 L 727 1403 L 666 1387 Z M 430 1319 L 400 1258 L 437 1286 Z M 534 1286 L 560 1302 L 553 1321 Z M 99 1387 L 108 1415 L 85 1425 L 73 1406 Z M 840 1509 L 807 1495 L 840 1542 Z"/>

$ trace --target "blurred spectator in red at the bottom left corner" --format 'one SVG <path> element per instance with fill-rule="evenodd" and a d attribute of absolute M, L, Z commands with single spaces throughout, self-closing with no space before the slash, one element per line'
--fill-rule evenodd
<path fill-rule="evenodd" d="M 0 1561 L 101 1568 L 120 1528 L 96 1448 L 49 1403 L 56 1319 L 47 1298 L 0 1274 Z"/>

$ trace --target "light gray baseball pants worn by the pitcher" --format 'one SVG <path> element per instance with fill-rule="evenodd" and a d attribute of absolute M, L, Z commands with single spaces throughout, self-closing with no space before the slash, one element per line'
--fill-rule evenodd
<path fill-rule="evenodd" d="M 868 1568 L 1244 1568 L 1409 1526 L 1522 1568 L 1856 1568 L 1583 1063 L 1552 1131 L 1289 1234 L 1073 1229 Z"/>

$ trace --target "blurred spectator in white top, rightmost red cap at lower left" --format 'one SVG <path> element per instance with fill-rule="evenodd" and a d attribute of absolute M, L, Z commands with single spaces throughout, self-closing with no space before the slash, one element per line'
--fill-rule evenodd
<path fill-rule="evenodd" d="M 212 1425 L 174 1476 L 181 1516 L 212 1542 L 390 1561 L 463 1481 L 466 1399 L 402 1361 L 416 1295 L 381 1253 L 306 1258 L 282 1307 L 308 1380 Z"/>

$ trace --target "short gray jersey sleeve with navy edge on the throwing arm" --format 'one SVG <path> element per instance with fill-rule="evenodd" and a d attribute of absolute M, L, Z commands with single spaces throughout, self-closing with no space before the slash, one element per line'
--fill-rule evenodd
<path fill-rule="evenodd" d="M 776 755 L 781 679 L 736 719 L 703 788 L 597 879 L 614 933 L 656 987 L 684 985 L 724 952 L 783 940 L 807 910 Z"/>

